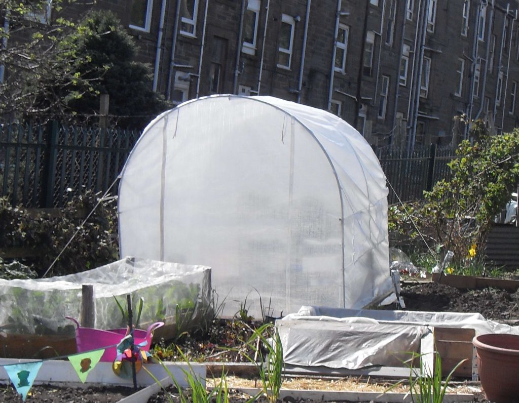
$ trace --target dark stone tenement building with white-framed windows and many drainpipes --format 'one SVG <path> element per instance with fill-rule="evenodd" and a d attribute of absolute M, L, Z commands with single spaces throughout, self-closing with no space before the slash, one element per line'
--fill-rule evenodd
<path fill-rule="evenodd" d="M 179 104 L 273 95 L 330 110 L 372 144 L 450 144 L 454 119 L 518 124 L 519 0 L 98 0 Z M 78 6 L 79 7 L 79 6 Z"/>

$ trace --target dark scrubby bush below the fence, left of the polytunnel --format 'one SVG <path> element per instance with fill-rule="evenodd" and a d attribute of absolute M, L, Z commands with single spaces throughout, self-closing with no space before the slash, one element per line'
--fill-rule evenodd
<path fill-rule="evenodd" d="M 48 275 L 81 272 L 112 262 L 119 255 L 116 205 L 112 199 L 94 210 L 97 203 L 96 195 L 87 192 L 56 216 L 44 211 L 31 213 L 11 206 L 6 197 L 0 198 L 0 250 L 16 248 L 20 262 L 38 275 L 44 274 L 62 251 Z"/>

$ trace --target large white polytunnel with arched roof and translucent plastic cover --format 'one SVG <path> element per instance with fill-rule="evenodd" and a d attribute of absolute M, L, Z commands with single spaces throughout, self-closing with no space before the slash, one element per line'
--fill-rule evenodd
<path fill-rule="evenodd" d="M 371 146 L 337 116 L 207 96 L 159 115 L 131 151 L 120 254 L 210 266 L 224 314 L 363 308 L 392 291 L 387 194 Z"/>

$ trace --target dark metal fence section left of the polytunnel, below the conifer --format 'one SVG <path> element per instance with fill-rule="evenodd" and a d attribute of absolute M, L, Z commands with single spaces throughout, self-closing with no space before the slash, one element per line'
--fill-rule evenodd
<path fill-rule="evenodd" d="M 0 126 L 0 195 L 13 205 L 62 207 L 116 180 L 139 132 L 45 125 Z"/>

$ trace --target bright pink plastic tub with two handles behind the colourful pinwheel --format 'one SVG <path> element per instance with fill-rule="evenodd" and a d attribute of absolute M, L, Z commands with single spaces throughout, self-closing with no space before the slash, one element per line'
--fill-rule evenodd
<path fill-rule="evenodd" d="M 123 337 L 126 336 L 127 329 L 110 329 L 101 330 L 93 329 L 91 327 L 81 327 L 79 322 L 73 317 L 65 316 L 76 324 L 76 344 L 77 352 L 81 353 L 90 350 L 99 350 L 106 346 L 111 346 L 105 349 L 101 357 L 103 362 L 113 362 L 117 357 L 117 350 L 114 344 L 118 344 Z M 140 344 L 146 341 L 146 345 L 141 347 L 141 350 L 148 351 L 152 343 L 153 331 L 159 327 L 164 326 L 164 322 L 155 322 L 148 326 L 147 330 L 133 329 L 134 344 Z"/>

